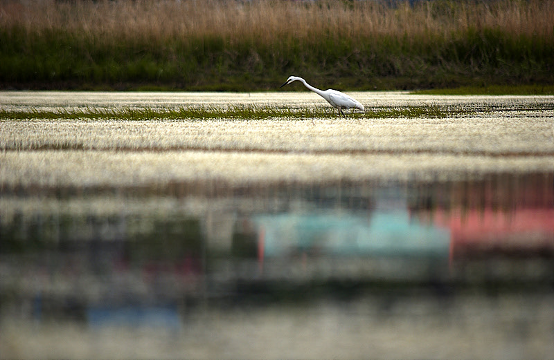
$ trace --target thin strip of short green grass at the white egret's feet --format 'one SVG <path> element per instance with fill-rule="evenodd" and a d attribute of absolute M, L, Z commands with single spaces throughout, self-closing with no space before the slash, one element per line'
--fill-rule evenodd
<path fill-rule="evenodd" d="M 367 108 L 365 113 L 346 113 L 350 118 L 388 117 L 452 117 L 472 113 L 461 106 L 403 106 Z M 0 120 L 266 120 L 266 119 L 310 119 L 337 118 L 338 112 L 330 107 L 285 108 L 275 106 L 185 106 L 170 108 L 60 108 L 44 111 L 36 108 L 6 110 L 0 108 Z"/>

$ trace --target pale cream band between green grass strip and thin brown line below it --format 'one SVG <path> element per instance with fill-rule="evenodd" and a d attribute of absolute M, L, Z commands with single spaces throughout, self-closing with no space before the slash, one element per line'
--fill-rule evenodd
<path fill-rule="evenodd" d="M 3 122 L 7 150 L 554 153 L 548 117 Z"/>

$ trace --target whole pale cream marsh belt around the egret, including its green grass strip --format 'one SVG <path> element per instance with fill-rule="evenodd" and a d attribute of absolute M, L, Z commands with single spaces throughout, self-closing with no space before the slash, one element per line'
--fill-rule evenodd
<path fill-rule="evenodd" d="M 551 169 L 553 98 L 5 92 L 0 182 L 323 181 Z M 71 174 L 71 176 L 68 176 Z"/>

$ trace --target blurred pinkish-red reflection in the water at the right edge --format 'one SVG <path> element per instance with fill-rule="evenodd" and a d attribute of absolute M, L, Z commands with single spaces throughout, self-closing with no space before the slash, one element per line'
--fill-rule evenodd
<path fill-rule="evenodd" d="M 414 211 L 450 232 L 449 256 L 554 256 L 552 174 L 492 176 L 452 183 L 435 193 L 436 207 Z"/>

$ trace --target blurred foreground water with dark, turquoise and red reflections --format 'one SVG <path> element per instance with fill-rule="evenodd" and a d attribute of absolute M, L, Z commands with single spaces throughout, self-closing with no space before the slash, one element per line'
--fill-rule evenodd
<path fill-rule="evenodd" d="M 379 319 L 391 314 L 396 316 L 393 323 L 400 318 L 418 323 L 417 316 L 425 316 L 430 321 L 425 325 L 430 328 L 422 328 L 425 332 L 443 318 L 476 321 L 467 307 L 491 294 L 529 299 L 528 306 L 525 301 L 504 304 L 508 312 L 524 313 L 503 319 L 503 325 L 516 321 L 522 332 L 516 340 L 516 334 L 503 334 L 506 339 L 500 343 L 519 341 L 525 350 L 519 355 L 552 350 L 544 347 L 551 331 L 541 332 L 543 343 L 531 339 L 528 327 L 537 314 L 545 331 L 554 327 L 552 311 L 541 300 L 551 299 L 554 283 L 553 173 L 418 184 L 229 188 L 213 182 L 155 189 L 3 189 L 0 204 L 0 325 L 12 333 L 0 345 L 10 349 L 8 357 L 42 354 L 41 348 L 33 353 L 19 347 L 14 321 L 85 325 L 96 332 L 163 329 L 192 341 L 188 350 L 170 345 L 175 352 L 166 354 L 181 357 L 273 357 L 262 350 L 245 353 L 243 343 L 230 340 L 226 332 L 210 332 L 213 339 L 198 334 L 206 334 L 210 324 L 232 329 L 233 321 L 240 326 L 247 321 L 255 326 L 253 319 L 245 320 L 248 316 L 236 318 L 236 312 L 256 304 L 253 313 L 262 317 L 279 306 L 283 319 L 298 316 L 305 307 L 323 308 L 318 321 L 332 321 L 338 312 L 347 327 L 361 326 L 359 314 L 379 326 L 384 325 Z M 472 303 L 463 300 L 468 294 L 477 296 Z M 371 310 L 352 310 L 343 301 L 350 301 L 348 306 L 364 303 Z M 403 304 L 404 310 L 395 304 Z M 448 304 L 452 307 L 445 310 Z M 350 315 L 342 313 L 346 308 Z M 503 331 L 502 324 L 486 325 L 481 311 L 472 313 L 485 321 L 480 331 Z M 256 326 L 269 331 L 264 340 L 269 348 L 273 331 L 279 330 L 269 323 Z M 302 328 L 298 324 L 296 330 Z M 390 329 L 397 331 L 396 325 Z M 352 339 L 353 333 L 343 336 Z M 314 339 L 304 336 L 307 352 L 283 350 L 276 357 L 319 354 L 309 351 Z M 211 348 L 211 343 L 226 341 L 235 341 L 235 352 Z M 359 352 L 327 354 L 366 354 L 364 344 L 358 345 Z M 64 350 L 43 354 L 113 355 L 86 347 L 82 352 Z M 403 354 L 383 351 L 385 356 Z"/>

